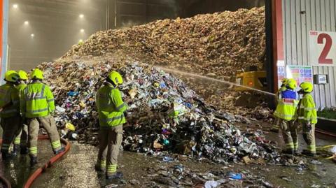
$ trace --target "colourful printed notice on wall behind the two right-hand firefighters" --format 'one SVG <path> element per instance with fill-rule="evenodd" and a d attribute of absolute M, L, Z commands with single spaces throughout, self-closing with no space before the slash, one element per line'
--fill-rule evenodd
<path fill-rule="evenodd" d="M 312 66 L 286 66 L 286 77 L 294 78 L 297 82 L 297 86 L 302 82 L 313 83 L 313 68 Z"/>

